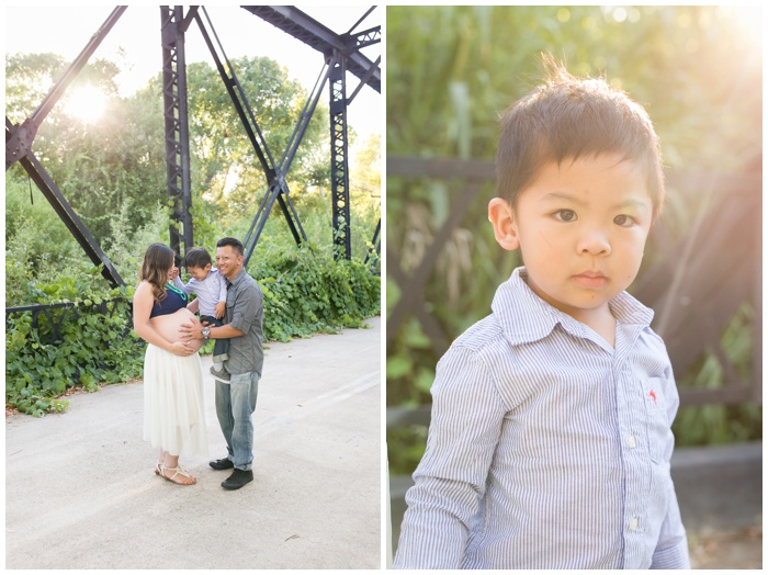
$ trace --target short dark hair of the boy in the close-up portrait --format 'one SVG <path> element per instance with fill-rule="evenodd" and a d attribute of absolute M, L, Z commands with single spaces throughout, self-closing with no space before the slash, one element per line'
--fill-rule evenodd
<path fill-rule="evenodd" d="M 645 171 L 656 218 L 664 204 L 664 172 L 658 136 L 643 106 L 605 79 L 578 79 L 552 56 L 542 60 L 544 83 L 501 116 L 497 195 L 515 206 L 544 165 L 615 153 Z"/>

